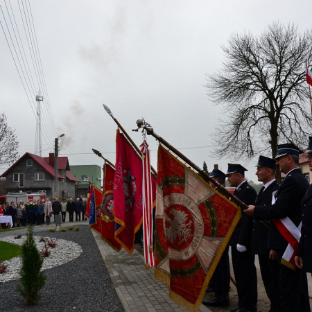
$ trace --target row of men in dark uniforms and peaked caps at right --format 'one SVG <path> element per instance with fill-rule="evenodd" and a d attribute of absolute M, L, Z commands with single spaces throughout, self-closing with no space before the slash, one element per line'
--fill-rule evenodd
<path fill-rule="evenodd" d="M 241 164 L 228 164 L 227 173 L 212 171 L 211 178 L 223 186 L 227 180 L 248 208 L 241 205 L 242 217 L 207 288 L 214 296 L 203 304 L 229 306 L 230 246 L 238 294 L 231 312 L 257 311 L 256 254 L 270 312 L 311 311 L 306 273 L 312 272 L 312 186 L 299 167 L 301 154 L 312 171 L 312 137 L 305 152 L 294 144 L 280 144 L 275 159 L 260 156 L 256 175 L 263 187 L 258 194 L 245 180 L 247 169 Z M 280 185 L 277 167 L 284 173 Z M 222 193 L 217 184 L 211 185 Z"/>

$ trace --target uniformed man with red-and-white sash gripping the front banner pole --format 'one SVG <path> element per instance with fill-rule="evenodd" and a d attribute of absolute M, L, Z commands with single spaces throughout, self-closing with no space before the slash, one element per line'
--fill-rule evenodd
<path fill-rule="evenodd" d="M 310 311 L 306 274 L 302 274 L 302 270 L 299 268 L 292 268 L 291 263 L 283 259 L 284 252 L 288 247 L 286 239 L 288 231 L 284 230 L 286 225 L 279 227 L 279 223 L 283 223 L 285 220 L 287 220 L 290 230 L 291 226 L 298 227 L 300 224 L 300 203 L 306 190 L 309 189 L 309 182 L 299 168 L 300 153 L 302 153 L 301 150 L 294 144 L 278 146 L 275 157 L 276 165 L 286 176 L 275 195 L 276 202 L 266 206 L 250 206 L 245 210 L 245 214 L 254 216 L 256 220 L 273 220 L 275 223 L 272 226 L 269 241 L 270 247 L 277 252 L 279 306 L 283 312 Z"/>

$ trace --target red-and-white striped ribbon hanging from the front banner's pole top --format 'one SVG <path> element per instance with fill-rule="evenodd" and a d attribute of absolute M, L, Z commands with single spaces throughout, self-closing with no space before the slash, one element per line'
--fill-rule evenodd
<path fill-rule="evenodd" d="M 150 150 L 146 140 L 140 146 L 143 155 L 143 243 L 146 268 L 154 267 L 153 249 L 153 198 L 156 192 L 156 180 L 150 172 Z"/>

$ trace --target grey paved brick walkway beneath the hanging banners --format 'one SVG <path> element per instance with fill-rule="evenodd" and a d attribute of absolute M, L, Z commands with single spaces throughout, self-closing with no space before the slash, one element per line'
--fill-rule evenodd
<path fill-rule="evenodd" d="M 116 252 L 92 231 L 116 292 L 126 312 L 187 311 L 169 298 L 168 287 L 154 279 L 153 268 L 145 270 L 144 257 L 134 250 Z M 202 312 L 209 312 L 201 305 Z"/>

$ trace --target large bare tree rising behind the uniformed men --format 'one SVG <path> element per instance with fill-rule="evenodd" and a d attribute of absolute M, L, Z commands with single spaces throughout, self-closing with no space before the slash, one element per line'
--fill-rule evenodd
<path fill-rule="evenodd" d="M 214 133 L 215 155 L 275 157 L 277 142 L 306 146 L 311 135 L 305 61 L 312 61 L 312 33 L 275 22 L 258 37 L 232 35 L 225 62 L 207 75 L 208 96 L 223 105 Z"/>

